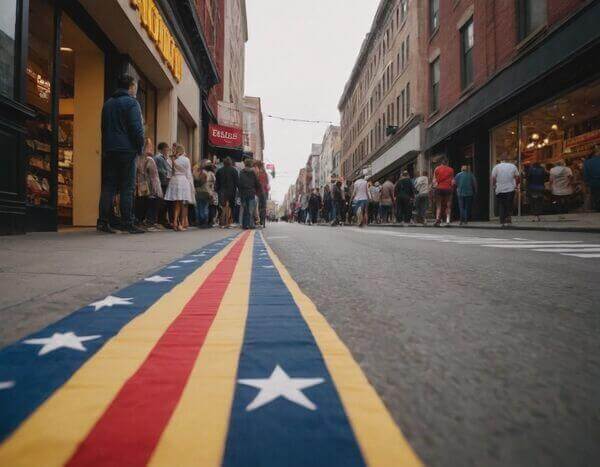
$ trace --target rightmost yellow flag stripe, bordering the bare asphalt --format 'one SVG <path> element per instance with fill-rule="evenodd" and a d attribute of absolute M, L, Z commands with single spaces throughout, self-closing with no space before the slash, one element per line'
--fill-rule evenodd
<path fill-rule="evenodd" d="M 421 466 L 421 461 L 348 348 L 312 300 L 300 290 L 273 250 L 268 245 L 266 247 L 321 349 L 367 465 Z"/>

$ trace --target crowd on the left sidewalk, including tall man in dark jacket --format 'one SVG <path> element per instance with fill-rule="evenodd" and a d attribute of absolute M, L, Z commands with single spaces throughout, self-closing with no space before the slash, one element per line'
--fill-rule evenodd
<path fill-rule="evenodd" d="M 230 158 L 192 164 L 179 143 L 154 150 L 135 99 L 137 82 L 123 76 L 102 111 L 102 192 L 97 230 L 132 234 L 190 226 L 243 229 L 266 225 L 269 177 L 262 161 Z"/>

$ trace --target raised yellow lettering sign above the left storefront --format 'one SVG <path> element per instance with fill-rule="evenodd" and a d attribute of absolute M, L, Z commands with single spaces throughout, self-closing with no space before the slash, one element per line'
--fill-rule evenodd
<path fill-rule="evenodd" d="M 177 82 L 181 81 L 183 55 L 175 38 L 165 24 L 154 0 L 130 0 L 132 8 L 139 11 L 142 26 L 156 45 L 160 56 Z"/>

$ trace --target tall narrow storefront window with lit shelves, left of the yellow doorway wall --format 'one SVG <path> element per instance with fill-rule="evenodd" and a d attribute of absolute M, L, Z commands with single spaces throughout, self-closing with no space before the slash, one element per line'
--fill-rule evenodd
<path fill-rule="evenodd" d="M 36 111 L 36 117 L 27 121 L 25 150 L 28 158 L 27 201 L 35 206 L 49 205 L 52 196 L 54 36 L 54 6 L 47 0 L 31 0 L 26 101 Z"/>

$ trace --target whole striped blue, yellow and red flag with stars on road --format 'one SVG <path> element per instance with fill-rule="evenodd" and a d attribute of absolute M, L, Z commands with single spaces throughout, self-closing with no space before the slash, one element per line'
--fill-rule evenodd
<path fill-rule="evenodd" d="M 419 465 L 262 238 L 209 245 L 0 351 L 0 465 Z"/>

